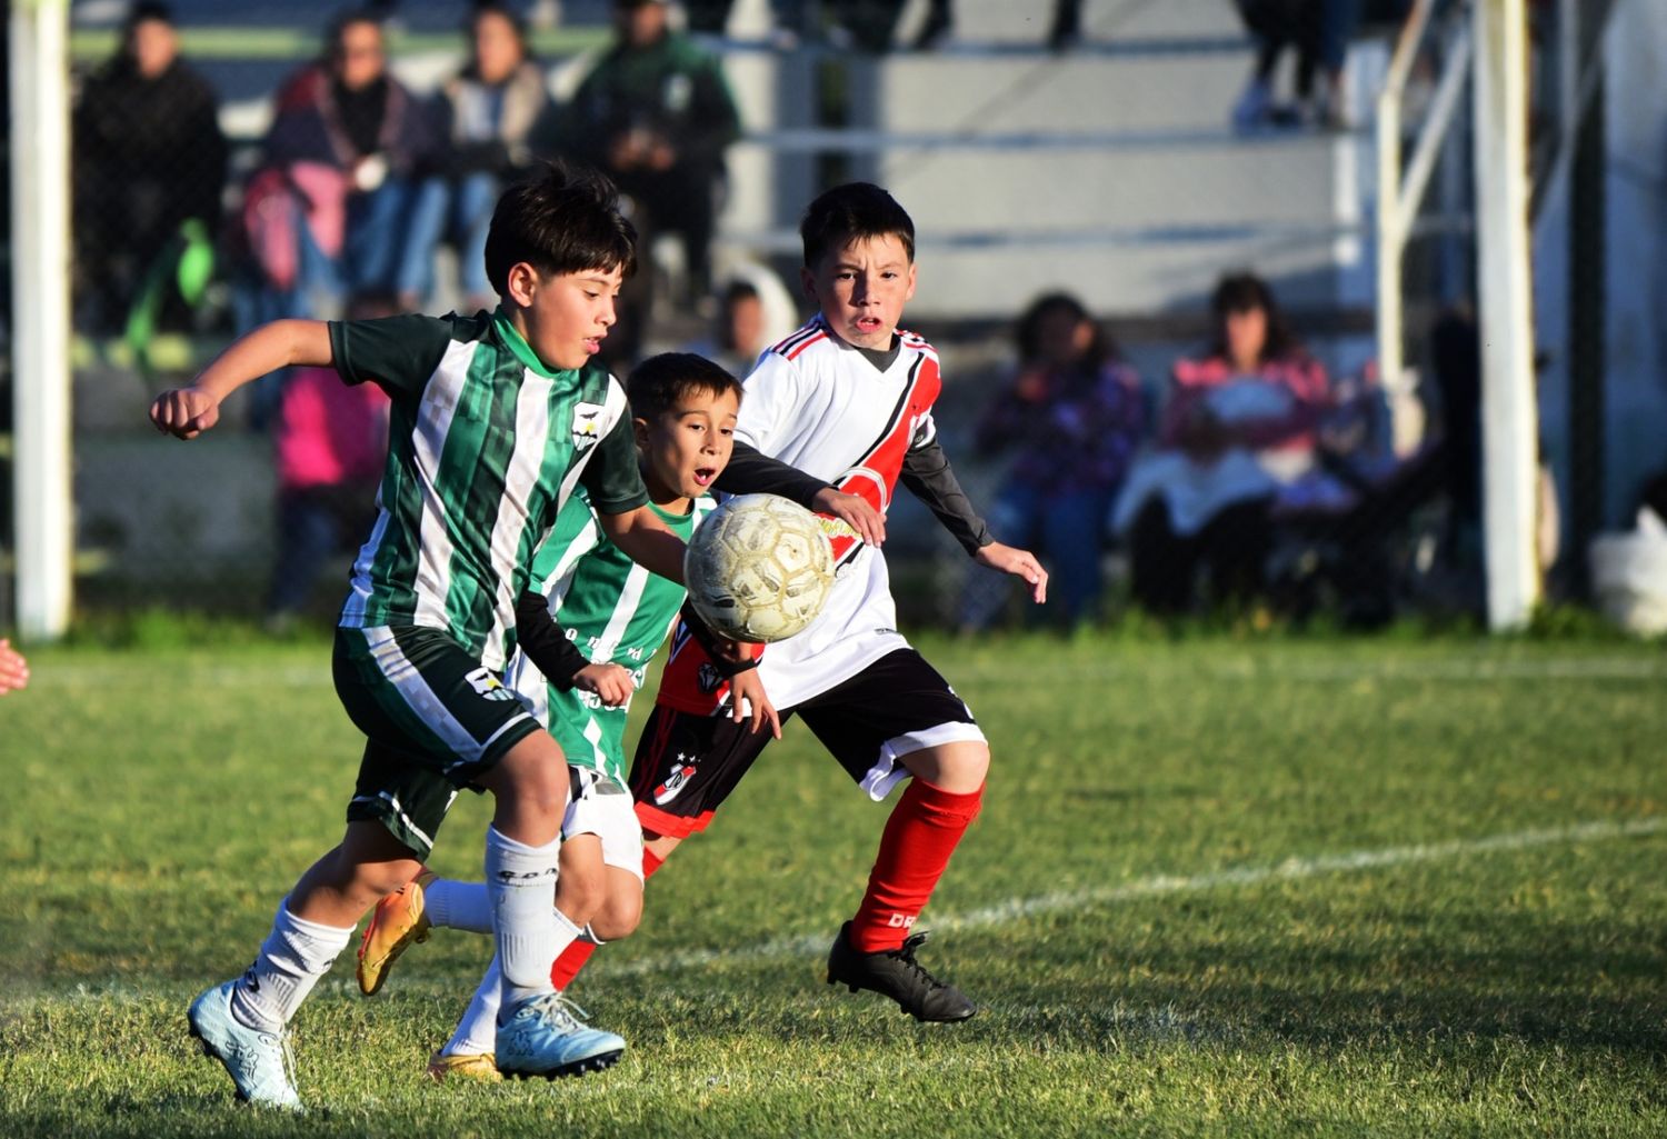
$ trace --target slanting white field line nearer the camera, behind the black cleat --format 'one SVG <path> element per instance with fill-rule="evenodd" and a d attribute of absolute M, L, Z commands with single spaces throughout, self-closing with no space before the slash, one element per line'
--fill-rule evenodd
<path fill-rule="evenodd" d="M 1484 839 L 1455 839 L 1452 842 L 1432 842 L 1425 845 L 1322 854 L 1309 859 L 1285 859 L 1284 862 L 1275 862 L 1272 866 L 1235 867 L 1227 871 L 1212 871 L 1207 874 L 1154 874 L 1150 877 L 1104 889 L 1069 891 L 1059 894 L 1042 894 L 1037 897 L 1015 897 L 967 914 L 935 917 L 930 926 L 935 931 L 992 929 L 1010 926 L 1027 917 L 1092 909 L 1097 906 L 1115 906 L 1119 902 L 1134 902 L 1149 897 L 1164 897 L 1169 894 L 1192 894 L 1222 887 L 1239 889 L 1264 886 L 1267 882 L 1295 882 L 1325 874 L 1380 871 L 1425 862 L 1452 862 L 1455 859 L 1479 854 L 1530 850 L 1535 847 L 1570 845 L 1575 842 L 1607 842 L 1614 839 L 1660 834 L 1662 830 L 1667 830 L 1667 815 L 1634 819 L 1629 822 L 1582 822 L 1570 827 L 1517 830 L 1514 834 L 1495 834 Z M 752 946 L 737 946 L 735 949 L 692 949 L 655 954 L 618 967 L 607 967 L 607 971 L 613 976 L 638 976 L 680 969 L 750 966 L 792 957 L 820 957 L 827 954 L 827 951 L 828 936 L 820 932 L 800 937 L 777 937 L 773 941 L 753 942 Z M 607 954 L 603 954 L 602 961 L 607 961 Z"/>

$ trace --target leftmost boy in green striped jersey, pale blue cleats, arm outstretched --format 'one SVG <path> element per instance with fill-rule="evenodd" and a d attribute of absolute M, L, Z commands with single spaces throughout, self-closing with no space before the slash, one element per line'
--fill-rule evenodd
<path fill-rule="evenodd" d="M 193 1036 L 240 1099 L 300 1106 L 285 1066 L 288 1021 L 365 911 L 422 869 L 433 829 L 410 825 L 405 804 L 378 794 L 388 767 L 497 800 L 485 871 L 503 966 L 498 1067 L 557 1076 L 623 1046 L 578 1024 L 550 984 L 568 769 L 498 674 L 533 550 L 575 487 L 613 545 L 682 580 L 683 544 L 648 504 L 625 392 L 592 360 L 633 268 L 635 232 L 607 178 L 550 167 L 498 200 L 485 258 L 495 314 L 280 320 L 150 410 L 158 430 L 195 439 L 227 395 L 290 365 L 333 365 L 392 399 L 378 517 L 333 654 L 337 694 L 368 737 L 360 794 L 342 842 L 278 906 L 253 966 L 190 1007 Z"/>

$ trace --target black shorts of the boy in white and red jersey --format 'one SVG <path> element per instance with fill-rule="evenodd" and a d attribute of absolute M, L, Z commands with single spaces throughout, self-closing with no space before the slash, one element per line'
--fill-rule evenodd
<path fill-rule="evenodd" d="M 927 747 L 984 742 L 972 710 L 914 649 L 899 649 L 792 709 L 840 767 L 875 800 L 909 777 L 897 760 Z M 643 830 L 687 837 L 705 830 L 770 742 L 728 707 L 678 712 L 657 704 L 632 759 L 630 790 Z"/>

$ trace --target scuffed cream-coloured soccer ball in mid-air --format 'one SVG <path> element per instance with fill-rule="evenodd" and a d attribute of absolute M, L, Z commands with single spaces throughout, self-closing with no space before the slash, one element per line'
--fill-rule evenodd
<path fill-rule="evenodd" d="M 822 612 L 834 547 L 817 515 L 773 494 L 743 494 L 702 519 L 683 555 L 688 602 L 733 640 L 783 640 Z"/>

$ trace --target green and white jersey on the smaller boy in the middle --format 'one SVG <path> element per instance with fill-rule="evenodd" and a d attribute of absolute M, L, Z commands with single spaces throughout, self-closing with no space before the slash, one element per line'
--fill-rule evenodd
<path fill-rule="evenodd" d="M 677 537 L 688 540 L 712 499 L 697 499 L 688 514 L 652 507 Z M 640 689 L 660 642 L 683 604 L 683 587 L 625 557 L 597 524 L 585 492 L 562 509 L 550 539 L 533 555 L 533 589 L 550 615 L 592 664 L 610 662 L 632 674 Z M 508 685 L 528 704 L 567 762 L 593 767 L 625 785 L 625 717 L 630 710 L 603 707 L 593 692 L 548 684 L 532 660 L 517 654 Z"/>

